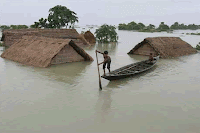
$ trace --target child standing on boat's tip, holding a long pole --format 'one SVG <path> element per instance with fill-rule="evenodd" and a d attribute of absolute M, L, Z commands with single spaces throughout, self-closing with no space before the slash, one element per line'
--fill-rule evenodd
<path fill-rule="evenodd" d="M 103 54 L 104 61 L 101 62 L 101 63 L 99 63 L 98 65 L 103 64 L 103 72 L 104 72 L 104 75 L 105 75 L 105 68 L 106 68 L 106 65 L 107 65 L 108 71 L 110 72 L 111 58 L 110 58 L 110 56 L 108 56 L 108 51 L 104 51 L 104 52 L 102 53 L 102 52 L 96 50 L 96 52 L 98 52 L 98 53 L 100 53 L 100 54 Z"/>

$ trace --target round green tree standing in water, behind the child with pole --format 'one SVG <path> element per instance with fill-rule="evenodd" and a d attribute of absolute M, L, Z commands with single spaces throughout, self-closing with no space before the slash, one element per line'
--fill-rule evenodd
<path fill-rule="evenodd" d="M 99 29 L 96 29 L 96 39 L 101 43 L 117 42 L 118 36 L 116 28 L 112 25 L 104 24 Z"/>

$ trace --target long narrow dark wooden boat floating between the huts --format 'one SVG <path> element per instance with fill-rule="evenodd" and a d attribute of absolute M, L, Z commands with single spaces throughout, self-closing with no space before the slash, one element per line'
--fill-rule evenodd
<path fill-rule="evenodd" d="M 159 60 L 159 56 L 154 57 L 154 60 L 151 63 L 149 62 L 149 60 L 132 63 L 127 66 L 116 69 L 114 71 L 111 71 L 110 73 L 106 73 L 105 76 L 101 76 L 101 77 L 107 80 L 117 80 L 117 79 L 130 77 L 135 74 L 142 73 L 144 71 L 151 69 L 152 67 L 156 65 L 158 60 Z"/>

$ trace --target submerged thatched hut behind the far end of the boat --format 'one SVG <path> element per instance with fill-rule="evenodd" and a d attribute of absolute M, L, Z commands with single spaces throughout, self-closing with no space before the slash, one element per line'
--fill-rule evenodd
<path fill-rule="evenodd" d="M 154 55 L 160 54 L 161 58 L 178 57 L 196 53 L 190 44 L 179 37 L 152 37 L 145 38 L 137 44 L 128 54 Z"/>

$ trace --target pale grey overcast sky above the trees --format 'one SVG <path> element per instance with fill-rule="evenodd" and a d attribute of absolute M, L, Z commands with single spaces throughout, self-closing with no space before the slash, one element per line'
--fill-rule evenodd
<path fill-rule="evenodd" d="M 174 22 L 200 25 L 200 0 L 0 0 L 0 25 L 31 25 L 56 5 L 77 13 L 78 25 Z"/>

